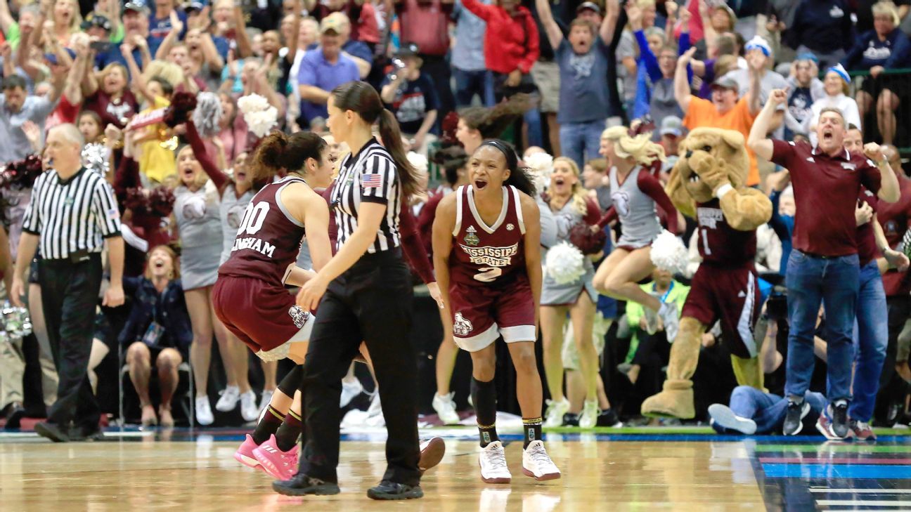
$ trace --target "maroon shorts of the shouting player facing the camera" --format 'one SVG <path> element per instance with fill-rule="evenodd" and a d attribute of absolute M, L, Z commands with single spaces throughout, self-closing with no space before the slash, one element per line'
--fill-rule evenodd
<path fill-rule="evenodd" d="M 449 287 L 455 344 L 467 352 L 486 348 L 503 336 L 506 343 L 534 342 L 535 301 L 528 282 L 492 288 L 481 283 Z"/>

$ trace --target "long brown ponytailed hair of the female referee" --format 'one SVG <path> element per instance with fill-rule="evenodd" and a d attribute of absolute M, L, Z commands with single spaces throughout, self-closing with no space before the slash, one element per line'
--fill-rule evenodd
<path fill-rule="evenodd" d="M 402 184 L 404 197 L 410 198 L 418 191 L 417 169 L 408 161 L 402 145 L 402 131 L 399 129 L 395 115 L 383 107 L 379 93 L 367 82 L 353 81 L 335 87 L 332 92 L 335 107 L 351 110 L 368 125 L 379 120 L 380 139 L 389 151 L 398 169 L 398 179 Z"/>

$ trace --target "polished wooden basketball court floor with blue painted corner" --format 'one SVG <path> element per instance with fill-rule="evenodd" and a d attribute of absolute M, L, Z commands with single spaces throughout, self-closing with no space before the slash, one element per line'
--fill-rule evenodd
<path fill-rule="evenodd" d="M 908 510 L 907 431 L 878 430 L 877 443 L 821 436 L 733 437 L 702 427 L 640 427 L 579 433 L 552 429 L 548 452 L 563 478 L 522 475 L 520 435 L 501 435 L 513 475 L 486 485 L 476 430 L 422 428 L 444 437 L 446 455 L 422 481 L 423 499 L 365 496 L 382 476 L 384 430 L 343 435 L 335 497 L 282 497 L 271 477 L 232 457 L 246 430 L 108 428 L 104 441 L 52 444 L 33 433 L 0 433 L 0 509 L 27 510 Z"/>

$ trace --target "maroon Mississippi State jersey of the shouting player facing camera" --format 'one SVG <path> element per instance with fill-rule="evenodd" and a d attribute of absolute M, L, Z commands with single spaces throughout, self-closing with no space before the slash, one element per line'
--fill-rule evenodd
<path fill-rule="evenodd" d="M 471 185 L 455 191 L 455 205 L 451 282 L 502 284 L 525 276 L 525 222 L 519 191 L 503 186 L 503 210 L 492 226 L 477 212 Z"/>

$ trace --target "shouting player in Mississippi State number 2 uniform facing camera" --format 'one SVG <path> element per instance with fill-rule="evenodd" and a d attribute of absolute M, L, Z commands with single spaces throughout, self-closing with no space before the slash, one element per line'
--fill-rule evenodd
<path fill-rule="evenodd" d="M 455 343 L 471 353 L 471 395 L 480 431 L 481 479 L 509 483 L 506 451 L 496 435 L 494 342 L 503 336 L 516 366 L 525 443 L 522 469 L 537 480 L 559 478 L 541 440 L 541 378 L 535 340 L 541 295 L 540 222 L 535 187 L 516 152 L 482 143 L 468 163 L 470 185 L 436 210 L 434 268 Z"/>

